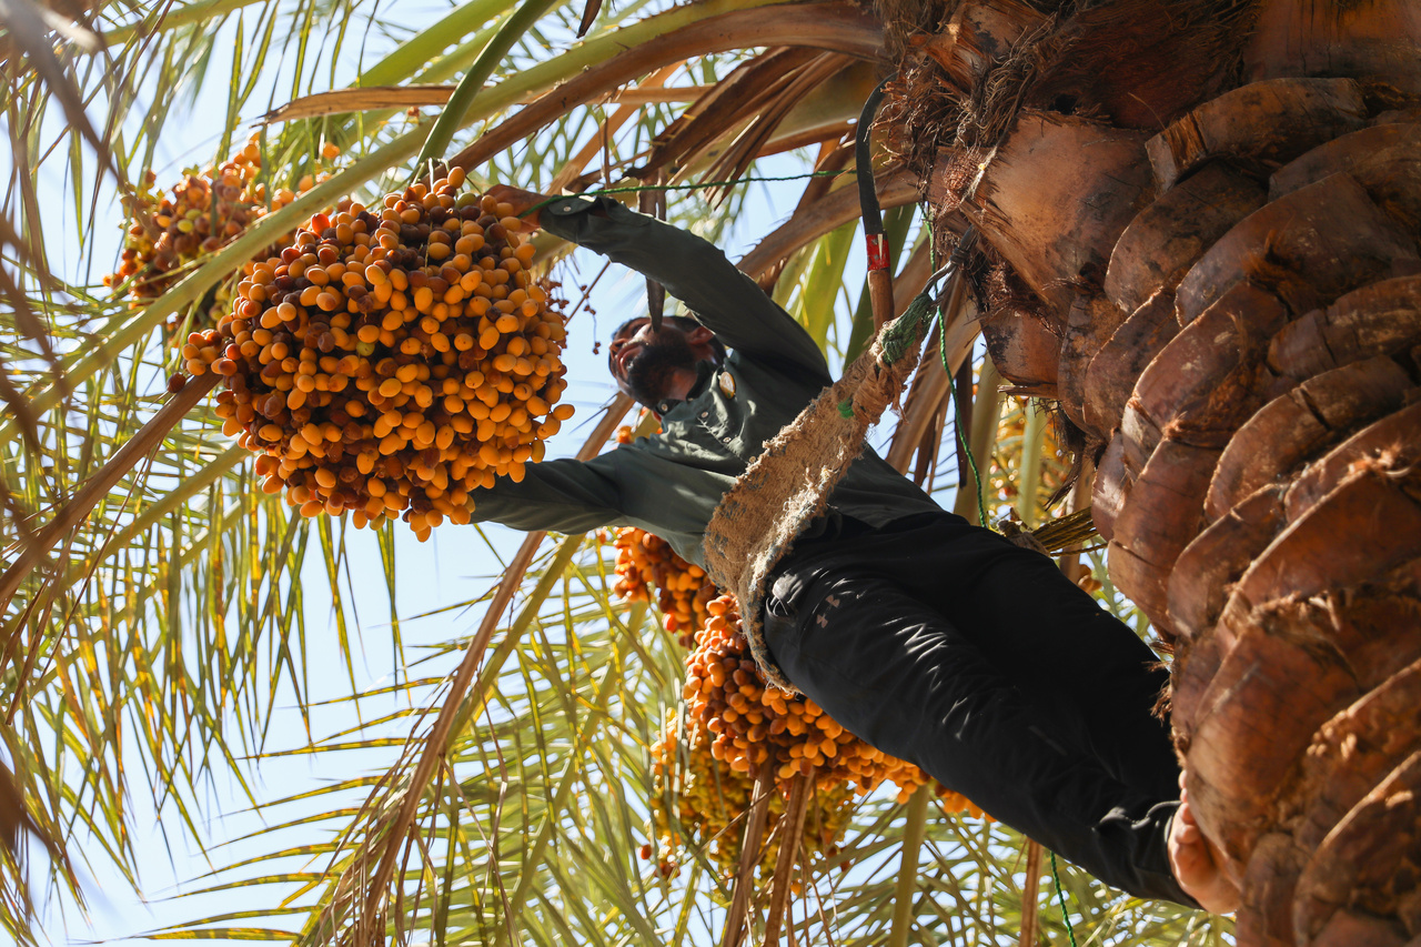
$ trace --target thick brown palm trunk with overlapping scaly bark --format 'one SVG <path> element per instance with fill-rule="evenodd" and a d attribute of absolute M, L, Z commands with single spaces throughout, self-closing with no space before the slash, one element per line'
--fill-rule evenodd
<path fill-rule="evenodd" d="M 1002 135 L 963 118 L 926 182 L 1030 290 L 986 300 L 989 350 L 1098 449 L 1239 943 L 1421 943 L 1421 6 L 1042 6 L 908 43 L 993 128 L 972 109 L 1030 41 Z M 1118 105 L 1137 70 L 1091 30 L 1188 58 L 1211 6 L 1246 38 L 1192 97 Z"/>

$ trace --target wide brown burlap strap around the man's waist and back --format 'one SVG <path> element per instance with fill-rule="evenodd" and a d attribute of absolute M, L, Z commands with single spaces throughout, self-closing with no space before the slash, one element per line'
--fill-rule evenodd
<path fill-rule="evenodd" d="M 706 572 L 715 583 L 735 593 L 750 653 L 770 684 L 794 687 L 764 647 L 760 606 L 764 580 L 794 545 L 811 519 L 828 505 L 828 495 L 864 449 L 868 428 L 877 424 L 918 365 L 922 337 L 921 313 L 908 328 L 909 344 L 901 346 L 904 320 L 880 330 L 874 344 L 774 438 L 750 462 L 716 506 L 706 526 Z M 894 330 L 898 330 L 897 334 Z M 898 341 L 902 354 L 884 364 L 885 340 Z M 897 348 L 899 346 L 891 346 Z M 851 411 L 847 411 L 851 405 Z"/>

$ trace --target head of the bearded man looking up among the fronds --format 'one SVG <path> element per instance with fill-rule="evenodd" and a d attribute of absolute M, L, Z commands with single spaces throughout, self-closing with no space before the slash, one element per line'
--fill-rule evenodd
<path fill-rule="evenodd" d="M 668 316 L 652 333 L 651 319 L 630 319 L 612 333 L 607 368 L 617 387 L 638 402 L 655 408 L 665 398 L 684 398 L 693 384 L 696 364 L 720 364 L 725 346 L 693 319 Z"/>

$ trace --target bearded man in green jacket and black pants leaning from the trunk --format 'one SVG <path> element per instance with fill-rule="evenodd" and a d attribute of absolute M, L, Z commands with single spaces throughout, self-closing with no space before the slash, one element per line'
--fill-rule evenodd
<path fill-rule="evenodd" d="M 713 246 L 608 198 L 496 188 L 530 226 L 661 282 L 695 319 L 614 334 L 618 387 L 662 434 L 470 495 L 519 529 L 632 525 L 703 563 L 706 525 L 831 382 L 809 334 Z M 544 205 L 541 209 L 540 205 Z M 1142 897 L 1229 911 L 1236 892 L 1178 799 L 1155 654 L 1050 559 L 942 510 L 871 449 L 772 573 L 764 646 L 850 732 Z"/>

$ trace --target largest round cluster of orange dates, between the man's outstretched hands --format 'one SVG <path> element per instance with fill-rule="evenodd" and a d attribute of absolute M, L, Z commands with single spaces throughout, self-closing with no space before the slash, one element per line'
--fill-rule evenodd
<path fill-rule="evenodd" d="M 384 206 L 314 215 L 182 348 L 189 373 L 226 377 L 225 429 L 303 515 L 398 518 L 421 539 L 466 523 L 469 491 L 522 481 L 573 412 L 533 245 L 512 206 L 462 183 L 455 168 Z"/>

